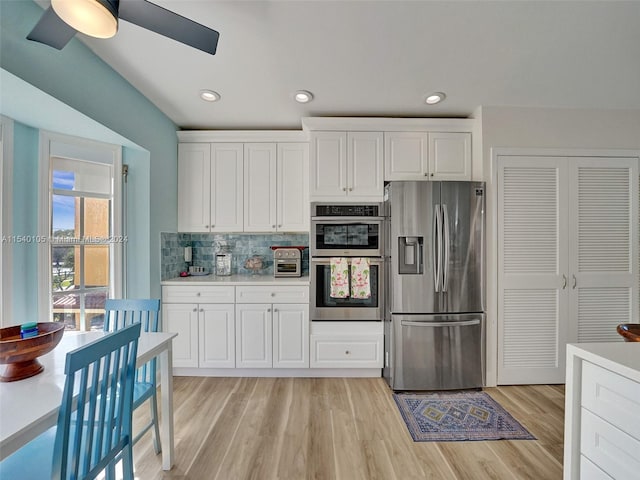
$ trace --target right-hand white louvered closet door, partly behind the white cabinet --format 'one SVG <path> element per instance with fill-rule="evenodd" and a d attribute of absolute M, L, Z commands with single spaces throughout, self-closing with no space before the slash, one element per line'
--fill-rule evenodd
<path fill-rule="evenodd" d="M 569 341 L 620 341 L 638 320 L 638 165 L 635 159 L 571 162 Z"/>

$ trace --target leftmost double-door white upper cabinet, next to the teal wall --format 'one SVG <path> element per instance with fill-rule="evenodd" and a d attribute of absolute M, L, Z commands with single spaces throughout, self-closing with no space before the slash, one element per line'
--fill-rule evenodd
<path fill-rule="evenodd" d="M 178 230 L 242 231 L 242 144 L 178 145 Z"/>

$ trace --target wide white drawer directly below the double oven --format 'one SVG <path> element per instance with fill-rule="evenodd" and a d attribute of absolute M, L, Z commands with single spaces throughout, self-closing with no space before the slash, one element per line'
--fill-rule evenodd
<path fill-rule="evenodd" d="M 382 368 L 382 336 L 311 335 L 312 368 Z"/>

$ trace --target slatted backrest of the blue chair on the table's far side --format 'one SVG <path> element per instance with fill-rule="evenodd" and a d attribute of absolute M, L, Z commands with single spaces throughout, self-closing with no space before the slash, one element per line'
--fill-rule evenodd
<path fill-rule="evenodd" d="M 160 329 L 160 299 L 108 298 L 104 303 L 104 331 L 120 330 L 126 325 L 140 323 L 143 332 Z M 136 381 L 156 384 L 156 358 L 141 366 Z"/>

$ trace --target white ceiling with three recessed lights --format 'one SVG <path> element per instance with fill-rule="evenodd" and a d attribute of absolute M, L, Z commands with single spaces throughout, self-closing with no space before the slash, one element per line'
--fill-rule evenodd
<path fill-rule="evenodd" d="M 216 55 L 127 22 L 112 39 L 78 37 L 184 129 L 480 105 L 640 109 L 640 1 L 154 3 L 218 30 Z M 221 101 L 200 100 L 204 88 Z M 296 104 L 299 89 L 313 102 Z M 446 101 L 425 105 L 432 91 Z"/>

